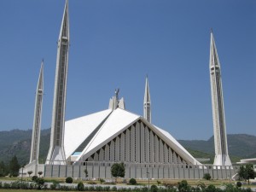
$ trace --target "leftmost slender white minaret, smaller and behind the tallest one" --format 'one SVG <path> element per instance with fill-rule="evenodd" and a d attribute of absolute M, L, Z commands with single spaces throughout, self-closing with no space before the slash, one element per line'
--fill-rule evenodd
<path fill-rule="evenodd" d="M 30 160 L 29 160 L 29 163 L 35 163 L 36 165 L 38 164 L 43 95 L 44 95 L 44 60 L 41 63 L 41 68 L 40 68 L 40 73 L 38 78 L 38 86 L 36 90 L 34 122 L 33 122 L 33 129 L 32 129 L 31 154 L 30 154 Z"/>

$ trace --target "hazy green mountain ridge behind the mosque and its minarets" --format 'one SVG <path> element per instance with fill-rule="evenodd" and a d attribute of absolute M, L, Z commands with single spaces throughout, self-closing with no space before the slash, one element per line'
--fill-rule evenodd
<path fill-rule="evenodd" d="M 42 130 L 40 135 L 39 162 L 44 163 L 49 150 L 50 129 Z M 240 159 L 255 158 L 256 136 L 230 134 L 227 136 L 229 154 L 232 162 Z M 9 162 L 16 155 L 20 165 L 26 165 L 30 158 L 32 130 L 0 131 L 0 161 Z M 205 140 L 177 140 L 195 158 L 214 159 L 214 138 Z"/>

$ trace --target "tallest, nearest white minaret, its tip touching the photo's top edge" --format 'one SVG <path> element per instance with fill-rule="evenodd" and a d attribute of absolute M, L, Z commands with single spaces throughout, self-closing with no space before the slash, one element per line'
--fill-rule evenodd
<path fill-rule="evenodd" d="M 64 14 L 61 23 L 61 32 L 58 40 L 55 94 L 53 101 L 51 134 L 49 153 L 46 164 L 66 164 L 64 151 L 65 109 L 67 90 L 67 64 L 69 47 L 69 18 L 68 1 L 66 0 Z"/>

